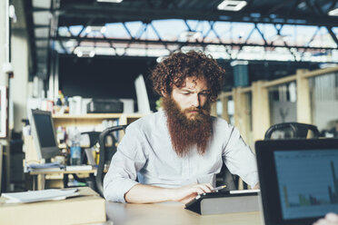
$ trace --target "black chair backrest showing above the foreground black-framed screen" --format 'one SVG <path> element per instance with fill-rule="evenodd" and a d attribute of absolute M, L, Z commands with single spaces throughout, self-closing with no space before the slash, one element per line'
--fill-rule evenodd
<path fill-rule="evenodd" d="M 319 138 L 319 131 L 312 124 L 300 122 L 283 122 L 272 125 L 266 132 L 264 139 L 272 139 L 273 133 L 282 132 L 280 139 L 305 139 L 309 137 L 309 131 L 312 132 L 311 138 Z"/>

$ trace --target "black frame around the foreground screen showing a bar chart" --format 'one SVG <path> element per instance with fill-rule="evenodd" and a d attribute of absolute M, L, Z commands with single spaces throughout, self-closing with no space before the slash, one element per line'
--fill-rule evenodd
<path fill-rule="evenodd" d="M 312 217 L 306 219 L 283 220 L 273 152 L 322 149 L 338 150 L 338 139 L 269 140 L 255 142 L 265 224 L 313 224 L 315 220 L 321 218 Z"/>

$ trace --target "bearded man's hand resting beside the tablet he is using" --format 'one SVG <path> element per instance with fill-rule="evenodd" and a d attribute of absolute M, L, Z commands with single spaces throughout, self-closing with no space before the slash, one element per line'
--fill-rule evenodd
<path fill-rule="evenodd" d="M 210 183 L 190 184 L 181 188 L 173 189 L 173 201 L 187 203 L 192 201 L 197 195 L 209 193 L 214 190 Z"/>

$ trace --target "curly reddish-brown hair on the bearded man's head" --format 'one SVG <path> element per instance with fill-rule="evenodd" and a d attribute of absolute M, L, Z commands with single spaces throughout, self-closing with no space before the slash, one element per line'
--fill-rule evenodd
<path fill-rule="evenodd" d="M 187 77 L 204 78 L 210 89 L 209 99 L 217 100 L 225 70 L 219 66 L 211 55 L 190 51 L 186 54 L 171 54 L 157 64 L 151 74 L 154 92 L 160 95 L 171 94 L 173 85 L 183 87 Z M 163 94 L 164 93 L 164 94 Z"/>

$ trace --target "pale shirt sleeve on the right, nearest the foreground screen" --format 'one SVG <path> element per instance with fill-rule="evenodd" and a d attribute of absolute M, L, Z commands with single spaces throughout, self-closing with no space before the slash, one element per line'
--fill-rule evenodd
<path fill-rule="evenodd" d="M 247 184 L 254 187 L 258 182 L 257 164 L 254 152 L 246 145 L 240 132 L 231 125 L 228 142 L 224 145 L 223 161 L 229 171 L 240 176 Z"/>

